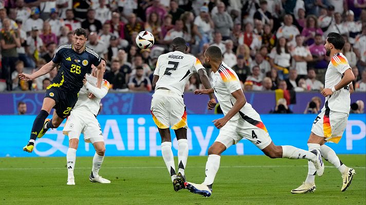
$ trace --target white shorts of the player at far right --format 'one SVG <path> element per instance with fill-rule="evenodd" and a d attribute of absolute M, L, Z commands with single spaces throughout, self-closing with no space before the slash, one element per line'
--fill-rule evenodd
<path fill-rule="evenodd" d="M 332 111 L 326 106 L 315 118 L 312 132 L 325 137 L 327 141 L 338 143 L 347 125 L 348 115 L 347 113 Z"/>

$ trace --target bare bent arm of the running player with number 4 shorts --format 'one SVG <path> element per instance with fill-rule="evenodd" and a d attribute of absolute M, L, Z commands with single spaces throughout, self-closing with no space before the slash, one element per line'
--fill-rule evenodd
<path fill-rule="evenodd" d="M 236 113 L 238 113 L 240 109 L 242 109 L 247 103 L 247 99 L 245 98 L 242 89 L 234 91 L 233 93 L 231 93 L 231 95 L 236 99 L 236 102 L 234 103 L 232 108 L 223 118 L 215 119 L 212 121 L 214 122 L 214 125 L 217 129 L 221 129 L 222 127 L 224 127 L 226 125 L 226 122 L 228 122 Z"/>

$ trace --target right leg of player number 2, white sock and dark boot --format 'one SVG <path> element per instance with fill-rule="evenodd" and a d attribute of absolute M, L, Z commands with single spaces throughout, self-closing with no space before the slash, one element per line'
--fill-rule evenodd
<path fill-rule="evenodd" d="M 187 129 L 179 128 L 174 130 L 175 136 L 178 140 L 178 174 L 177 181 L 180 184 L 180 188 L 185 188 L 184 183 L 186 182 L 185 169 L 187 165 L 188 158 L 188 140 L 187 140 Z"/>

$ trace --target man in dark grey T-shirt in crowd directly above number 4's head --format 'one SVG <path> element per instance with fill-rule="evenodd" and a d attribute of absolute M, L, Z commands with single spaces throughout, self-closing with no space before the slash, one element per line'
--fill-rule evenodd
<path fill-rule="evenodd" d="M 212 15 L 212 20 L 215 25 L 215 30 L 221 33 L 223 40 L 229 39 L 230 31 L 234 24 L 229 13 L 225 11 L 224 3 L 217 3 L 217 13 Z"/>

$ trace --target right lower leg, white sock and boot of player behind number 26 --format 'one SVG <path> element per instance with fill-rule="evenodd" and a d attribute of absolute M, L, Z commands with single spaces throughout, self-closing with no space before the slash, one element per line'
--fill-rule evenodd
<path fill-rule="evenodd" d="M 93 143 L 93 146 L 95 149 L 95 154 L 93 157 L 93 168 L 91 169 L 89 180 L 91 182 L 111 183 L 111 181 L 99 175 L 99 170 L 102 166 L 105 154 L 104 141 L 96 141 Z"/>

